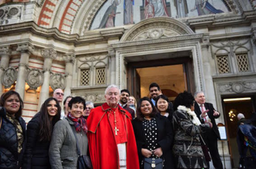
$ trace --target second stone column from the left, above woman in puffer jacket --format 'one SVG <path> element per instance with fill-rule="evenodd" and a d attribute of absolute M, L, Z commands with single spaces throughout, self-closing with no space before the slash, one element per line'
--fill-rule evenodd
<path fill-rule="evenodd" d="M 19 72 L 16 82 L 16 92 L 18 92 L 22 100 L 24 100 L 26 69 L 28 68 L 29 64 L 30 53 L 33 52 L 33 46 L 31 46 L 29 43 L 19 44 L 17 51 L 21 52 L 21 56 L 19 59 Z"/>

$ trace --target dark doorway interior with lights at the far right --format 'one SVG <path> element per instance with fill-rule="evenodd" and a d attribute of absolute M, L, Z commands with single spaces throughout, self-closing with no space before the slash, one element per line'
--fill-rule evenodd
<path fill-rule="evenodd" d="M 247 95 L 223 96 L 223 112 L 227 127 L 227 137 L 231 154 L 231 164 L 233 168 L 239 167 L 240 155 L 237 146 L 237 114 L 243 113 L 245 119 L 251 118 L 251 113 L 255 111 L 256 93 Z"/>

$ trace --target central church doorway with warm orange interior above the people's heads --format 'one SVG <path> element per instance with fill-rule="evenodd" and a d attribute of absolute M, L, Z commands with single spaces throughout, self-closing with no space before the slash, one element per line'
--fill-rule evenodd
<path fill-rule="evenodd" d="M 137 100 L 149 96 L 150 83 L 157 83 L 169 100 L 175 100 L 184 90 L 195 92 L 192 59 L 189 57 L 128 62 L 127 78 L 127 88 Z"/>

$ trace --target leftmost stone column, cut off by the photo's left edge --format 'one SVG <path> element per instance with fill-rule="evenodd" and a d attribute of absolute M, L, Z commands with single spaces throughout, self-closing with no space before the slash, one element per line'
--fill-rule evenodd
<path fill-rule="evenodd" d="M 3 93 L 3 86 L 2 86 L 2 73 L 4 72 L 4 69 L 6 69 L 9 66 L 9 60 L 11 56 L 11 49 L 9 49 L 9 46 L 3 46 L 0 48 L 0 56 L 1 56 L 1 63 L 0 63 L 0 95 Z"/>

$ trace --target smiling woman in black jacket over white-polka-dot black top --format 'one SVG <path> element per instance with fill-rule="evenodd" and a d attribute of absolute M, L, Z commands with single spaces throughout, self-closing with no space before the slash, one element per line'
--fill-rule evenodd
<path fill-rule="evenodd" d="M 173 168 L 171 123 L 168 118 L 157 112 L 149 98 L 140 99 L 137 106 L 137 118 L 132 123 L 140 167 L 144 167 L 144 158 L 161 158 L 164 161 L 164 168 Z"/>

